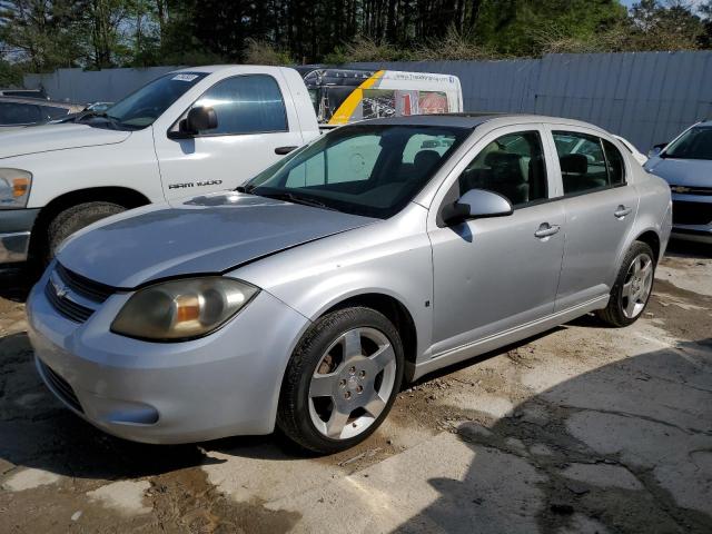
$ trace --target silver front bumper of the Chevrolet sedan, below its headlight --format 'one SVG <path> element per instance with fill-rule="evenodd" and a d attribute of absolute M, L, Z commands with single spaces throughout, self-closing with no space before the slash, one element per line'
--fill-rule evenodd
<path fill-rule="evenodd" d="M 145 443 L 274 429 L 284 369 L 309 322 L 268 293 L 207 337 L 148 343 L 109 332 L 129 294 L 77 324 L 48 300 L 47 279 L 28 299 L 29 336 L 42 379 L 79 416 Z"/>

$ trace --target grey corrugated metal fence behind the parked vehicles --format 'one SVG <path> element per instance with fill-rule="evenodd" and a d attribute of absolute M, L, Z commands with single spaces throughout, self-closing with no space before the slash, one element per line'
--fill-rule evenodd
<path fill-rule="evenodd" d="M 586 120 L 646 151 L 712 117 L 712 51 L 551 55 L 507 61 L 355 63 L 455 75 L 466 111 L 535 112 Z M 115 101 L 174 67 L 60 69 L 26 87 L 77 102 Z"/>

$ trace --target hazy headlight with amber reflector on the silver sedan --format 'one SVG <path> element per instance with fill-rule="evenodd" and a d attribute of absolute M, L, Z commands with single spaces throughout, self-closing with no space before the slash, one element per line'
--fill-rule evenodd
<path fill-rule="evenodd" d="M 129 298 L 111 330 L 157 342 L 205 336 L 224 325 L 257 293 L 255 286 L 221 276 L 156 284 Z"/>

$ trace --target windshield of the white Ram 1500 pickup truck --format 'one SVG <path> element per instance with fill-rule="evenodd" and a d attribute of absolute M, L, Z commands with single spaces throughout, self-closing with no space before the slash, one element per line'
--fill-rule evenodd
<path fill-rule="evenodd" d="M 164 111 L 195 86 L 206 72 L 172 72 L 166 75 L 118 101 L 106 112 L 88 113 L 90 126 L 112 126 L 120 129 L 141 129 L 154 123 Z"/>

